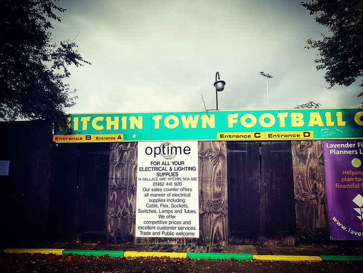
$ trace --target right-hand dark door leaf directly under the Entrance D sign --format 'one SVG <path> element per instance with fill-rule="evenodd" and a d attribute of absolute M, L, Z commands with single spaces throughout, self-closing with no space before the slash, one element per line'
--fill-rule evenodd
<path fill-rule="evenodd" d="M 263 244 L 295 244 L 294 181 L 290 142 L 261 143 Z"/>

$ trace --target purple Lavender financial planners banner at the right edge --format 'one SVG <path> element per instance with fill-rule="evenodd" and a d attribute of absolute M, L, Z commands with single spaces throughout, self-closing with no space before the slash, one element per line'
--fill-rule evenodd
<path fill-rule="evenodd" d="M 324 141 L 331 240 L 363 240 L 363 141 Z"/>

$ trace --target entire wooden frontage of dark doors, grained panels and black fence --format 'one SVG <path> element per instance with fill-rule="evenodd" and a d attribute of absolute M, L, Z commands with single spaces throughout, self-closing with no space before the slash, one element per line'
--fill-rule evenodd
<path fill-rule="evenodd" d="M 51 133 L 42 121 L 0 123 L 4 244 L 329 241 L 321 141 L 198 142 L 200 238 L 137 239 L 137 143 L 55 145 Z"/>

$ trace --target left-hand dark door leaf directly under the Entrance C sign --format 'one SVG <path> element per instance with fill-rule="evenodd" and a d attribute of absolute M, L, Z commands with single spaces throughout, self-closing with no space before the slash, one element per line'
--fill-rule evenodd
<path fill-rule="evenodd" d="M 229 241 L 261 244 L 260 158 L 257 142 L 227 142 Z"/>

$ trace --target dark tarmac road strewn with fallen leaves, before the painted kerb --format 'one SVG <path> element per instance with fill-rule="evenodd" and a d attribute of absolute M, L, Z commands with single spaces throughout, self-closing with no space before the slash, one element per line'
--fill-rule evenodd
<path fill-rule="evenodd" d="M 189 258 L 112 258 L 109 256 L 0 255 L 0 272 L 362 272 L 363 262 L 282 262 L 193 260 Z"/>

